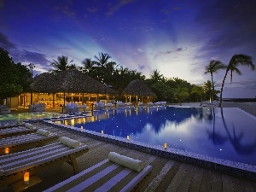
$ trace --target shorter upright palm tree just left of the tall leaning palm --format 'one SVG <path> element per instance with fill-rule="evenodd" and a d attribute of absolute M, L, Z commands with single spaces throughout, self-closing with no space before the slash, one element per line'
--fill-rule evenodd
<path fill-rule="evenodd" d="M 211 79 L 212 79 L 212 91 L 210 90 L 210 92 L 212 92 L 212 94 L 211 94 L 212 99 L 210 99 L 211 102 L 214 99 L 213 97 L 214 97 L 214 92 L 215 92 L 214 91 L 214 82 L 213 82 L 213 75 L 212 74 L 217 73 L 217 71 L 219 69 L 224 69 L 224 68 L 225 68 L 224 64 L 221 61 L 216 61 L 216 60 L 210 61 L 210 63 L 206 66 L 205 74 L 210 73 L 211 74 Z"/>

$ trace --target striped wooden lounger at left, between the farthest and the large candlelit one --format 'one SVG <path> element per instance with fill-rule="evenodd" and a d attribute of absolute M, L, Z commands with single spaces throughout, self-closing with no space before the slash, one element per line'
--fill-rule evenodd
<path fill-rule="evenodd" d="M 43 146 L 44 144 L 55 141 L 56 134 L 50 133 L 49 136 L 42 136 L 38 133 L 31 133 L 15 137 L 0 139 L 0 155 L 5 154 L 4 148 L 9 148 L 9 154 L 26 150 L 29 148 Z"/>

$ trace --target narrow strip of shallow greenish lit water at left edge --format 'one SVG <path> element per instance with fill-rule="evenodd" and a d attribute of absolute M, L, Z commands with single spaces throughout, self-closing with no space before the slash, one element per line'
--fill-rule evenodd
<path fill-rule="evenodd" d="M 45 119 L 45 118 L 53 118 L 60 117 L 60 113 L 50 113 L 50 112 L 33 112 L 33 113 L 10 113 L 10 114 L 1 114 L 1 121 L 11 121 L 11 120 L 27 120 L 27 119 Z"/>

